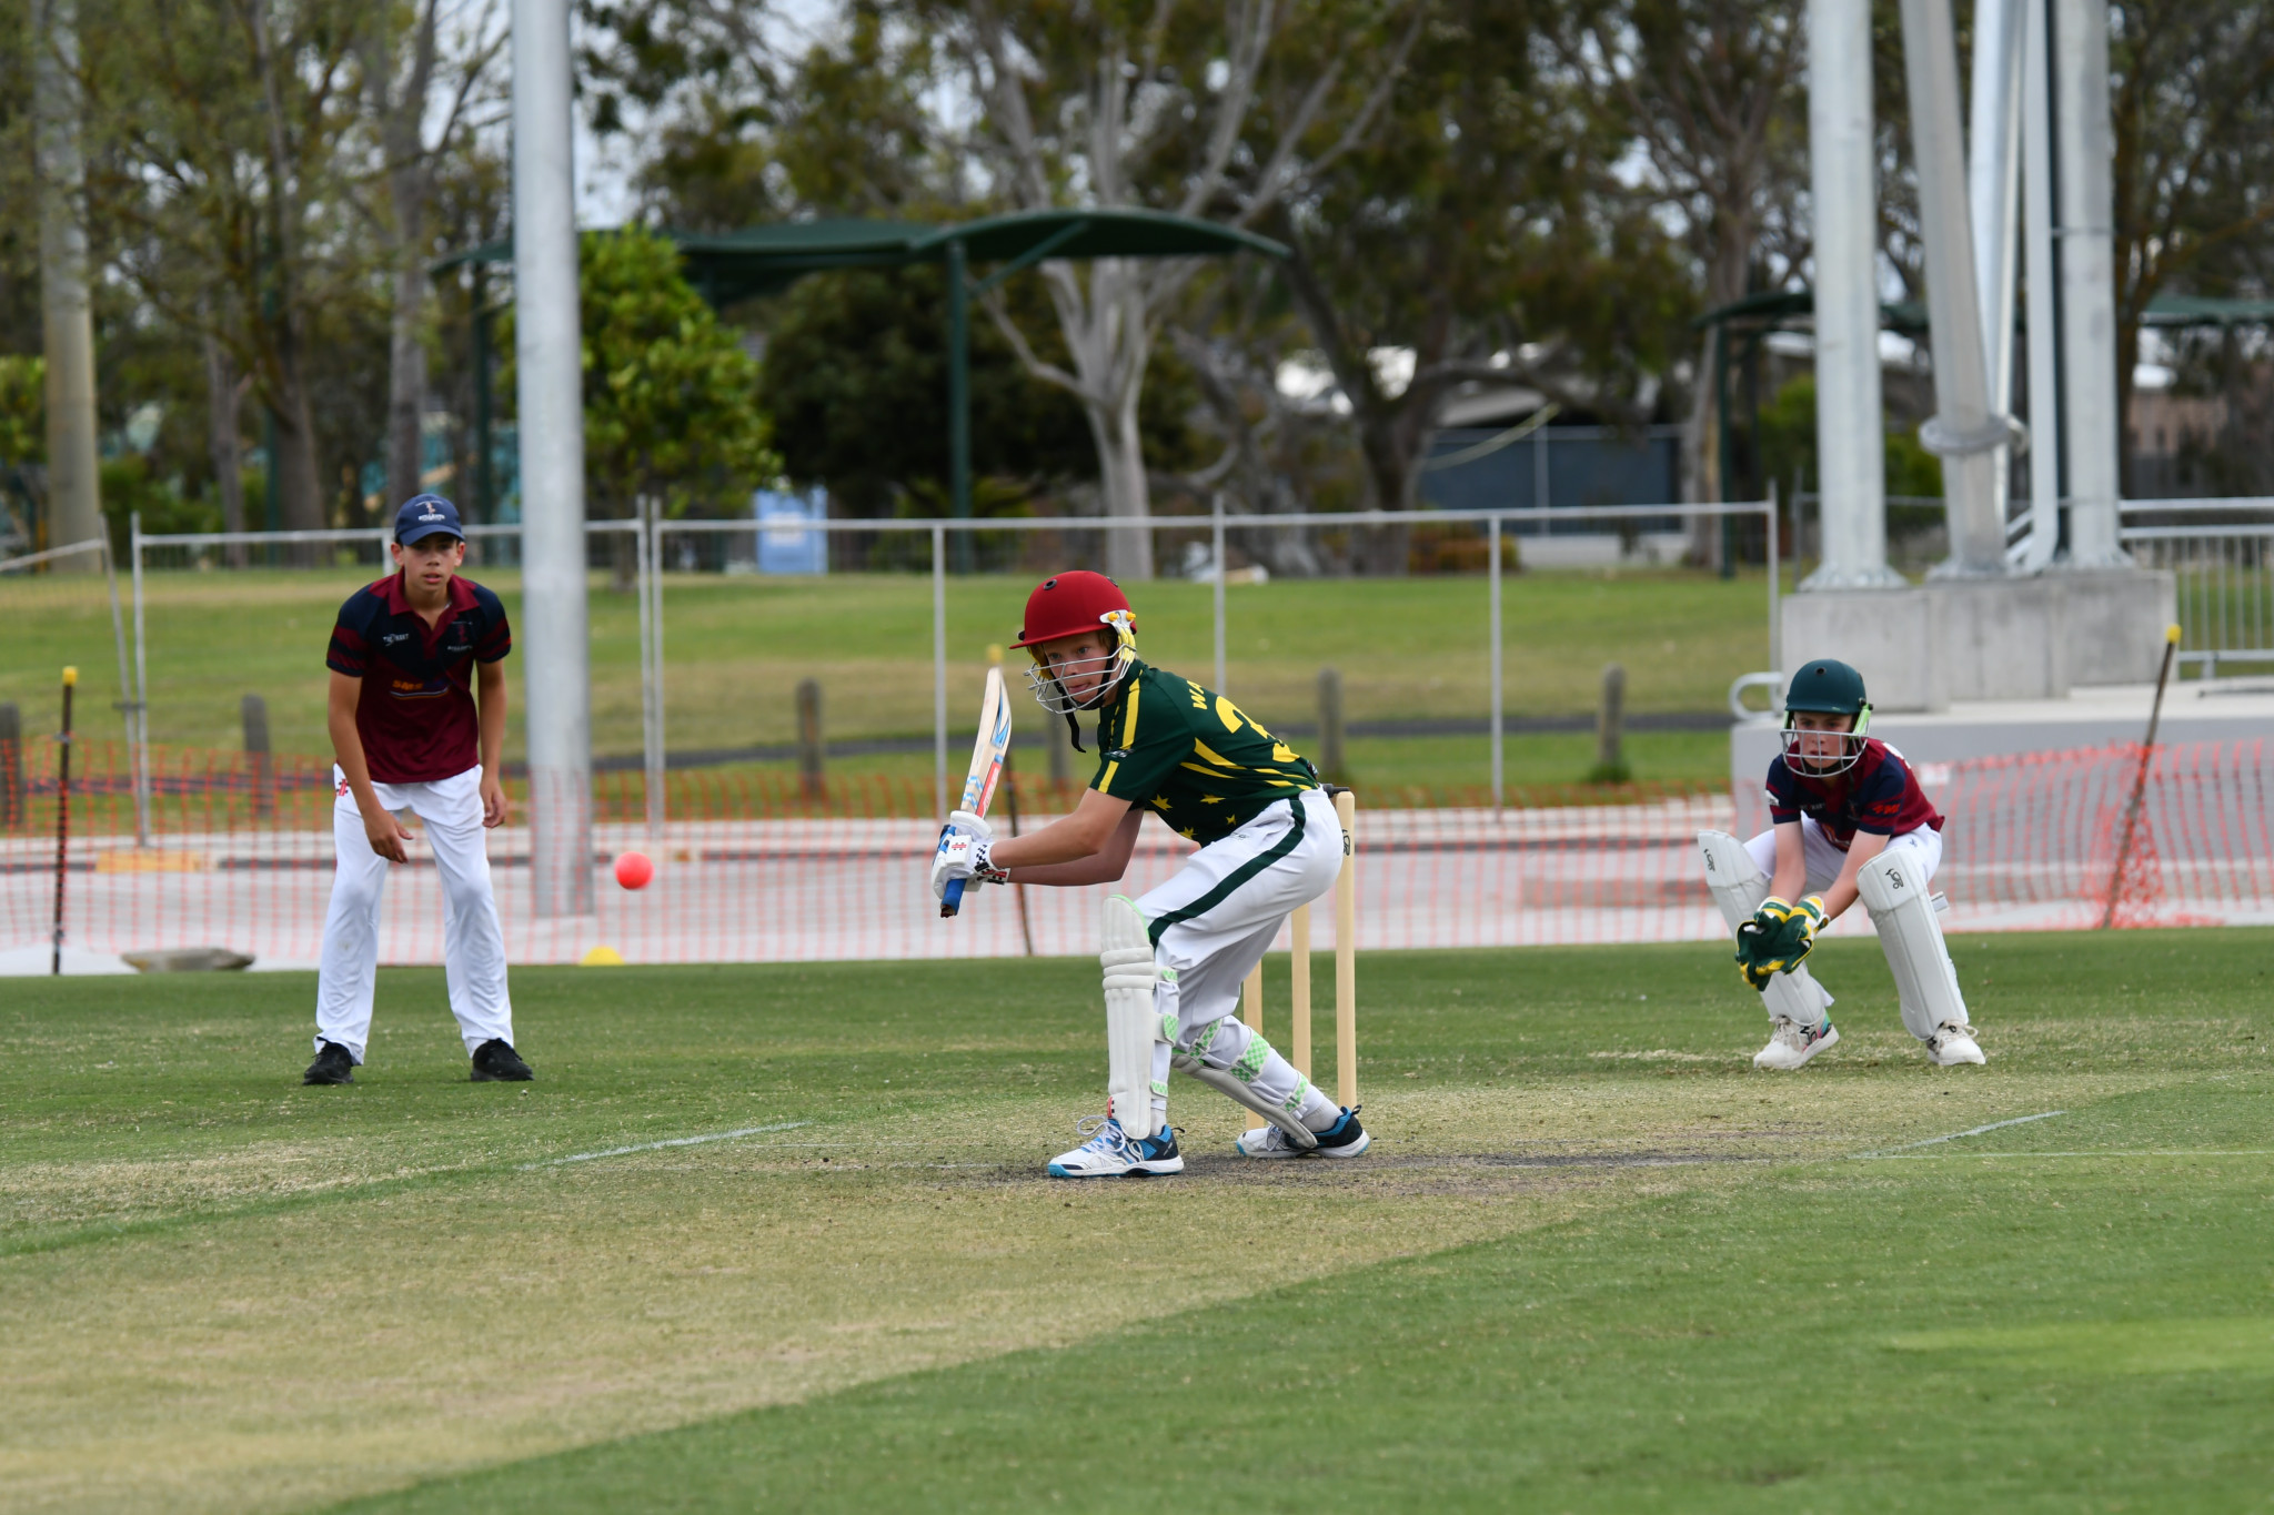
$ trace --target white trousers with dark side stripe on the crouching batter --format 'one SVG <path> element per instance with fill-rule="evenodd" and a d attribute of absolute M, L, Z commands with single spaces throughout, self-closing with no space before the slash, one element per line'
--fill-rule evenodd
<path fill-rule="evenodd" d="M 1153 961 L 1176 972 L 1162 979 L 1155 1004 L 1176 1011 L 1180 1047 L 1239 1008 L 1239 986 L 1280 924 L 1294 906 L 1330 890 L 1339 872 L 1342 822 L 1326 790 L 1312 788 L 1201 847 L 1137 902 L 1153 922 Z"/>

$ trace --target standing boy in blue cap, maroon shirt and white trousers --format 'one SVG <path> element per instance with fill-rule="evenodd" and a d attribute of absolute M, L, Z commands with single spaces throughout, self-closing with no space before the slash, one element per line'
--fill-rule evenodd
<path fill-rule="evenodd" d="M 339 759 L 332 768 L 339 872 L 316 974 L 316 1061 L 302 1083 L 352 1083 L 364 1061 L 380 968 L 380 893 L 387 868 L 409 861 L 405 811 L 425 822 L 434 847 L 450 1013 L 466 1038 L 473 1081 L 521 1081 L 530 1065 L 514 1052 L 505 934 L 482 847 L 482 829 L 505 825 L 500 663 L 514 634 L 498 597 L 457 577 L 466 531 L 457 507 L 441 495 L 405 502 L 389 556 L 398 570 L 348 595 L 325 654 Z"/>

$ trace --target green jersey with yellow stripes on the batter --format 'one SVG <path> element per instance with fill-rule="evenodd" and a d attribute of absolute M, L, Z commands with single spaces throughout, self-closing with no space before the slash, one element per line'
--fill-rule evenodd
<path fill-rule="evenodd" d="M 1267 804 L 1319 788 L 1317 770 L 1228 697 L 1137 661 L 1098 711 L 1089 788 L 1160 811 L 1203 847 Z"/>

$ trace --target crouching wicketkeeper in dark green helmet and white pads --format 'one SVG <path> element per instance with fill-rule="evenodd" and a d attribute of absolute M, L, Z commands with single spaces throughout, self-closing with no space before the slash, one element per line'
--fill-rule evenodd
<path fill-rule="evenodd" d="M 1867 736 L 1862 675 L 1808 663 L 1785 690 L 1783 752 L 1769 761 L 1771 829 L 1749 843 L 1699 831 L 1706 884 L 1737 938 L 1737 970 L 1769 1011 L 1753 1068 L 1803 1068 L 1837 1045 L 1833 997 L 1803 959 L 1862 899 L 1894 970 L 1903 1027 L 1942 1068 L 1981 1063 L 1958 972 L 1935 920 L 1942 815 L 1903 754 Z"/>

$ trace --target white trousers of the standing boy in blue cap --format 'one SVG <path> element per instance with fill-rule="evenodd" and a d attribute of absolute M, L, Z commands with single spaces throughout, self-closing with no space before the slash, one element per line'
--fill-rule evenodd
<path fill-rule="evenodd" d="M 505 993 L 505 931 L 489 888 L 489 849 L 482 845 L 482 770 L 468 768 L 432 784 L 373 784 L 391 813 L 425 822 L 434 870 L 441 874 L 441 961 L 450 1013 L 471 1056 L 482 1043 L 514 1040 L 514 1002 Z M 332 909 L 323 920 L 323 968 L 316 974 L 316 1049 L 339 1043 L 362 1063 L 371 1040 L 371 995 L 380 974 L 380 895 L 387 870 L 398 868 L 371 849 L 364 813 L 348 779 L 332 768 Z"/>

